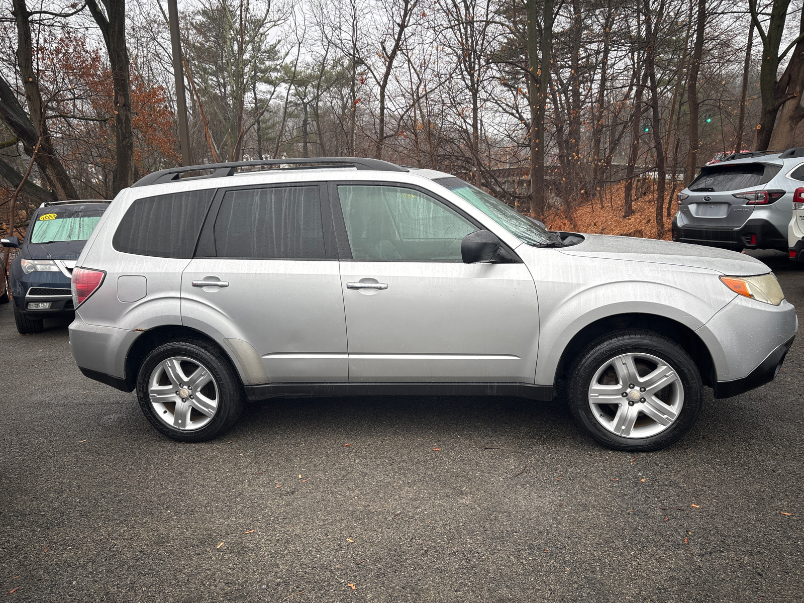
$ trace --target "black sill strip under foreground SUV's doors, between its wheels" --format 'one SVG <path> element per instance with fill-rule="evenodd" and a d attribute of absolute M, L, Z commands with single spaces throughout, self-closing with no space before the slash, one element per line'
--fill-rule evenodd
<path fill-rule="evenodd" d="M 250 402 L 269 398 L 330 396 L 515 396 L 545 401 L 553 398 L 552 385 L 519 383 L 285 383 L 246 385 L 245 392 Z"/>

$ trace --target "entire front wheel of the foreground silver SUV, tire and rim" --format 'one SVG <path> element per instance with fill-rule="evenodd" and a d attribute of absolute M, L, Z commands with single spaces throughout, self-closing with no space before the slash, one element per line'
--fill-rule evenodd
<path fill-rule="evenodd" d="M 657 450 L 695 425 L 704 388 L 677 343 L 648 330 L 623 330 L 581 351 L 568 383 L 576 421 L 617 450 Z"/>

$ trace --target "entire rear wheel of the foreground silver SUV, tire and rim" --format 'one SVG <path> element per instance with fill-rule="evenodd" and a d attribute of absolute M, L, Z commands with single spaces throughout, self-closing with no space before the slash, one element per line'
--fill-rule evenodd
<path fill-rule="evenodd" d="M 160 432 L 197 442 L 231 428 L 243 411 L 245 394 L 218 348 L 203 341 L 173 341 L 146 356 L 137 375 L 137 399 Z"/>

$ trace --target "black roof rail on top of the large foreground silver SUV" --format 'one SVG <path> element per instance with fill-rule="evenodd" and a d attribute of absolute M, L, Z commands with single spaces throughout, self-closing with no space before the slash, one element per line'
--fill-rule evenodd
<path fill-rule="evenodd" d="M 147 187 L 150 184 L 164 184 L 177 182 L 178 180 L 202 180 L 205 178 L 225 178 L 232 176 L 240 167 L 268 167 L 268 166 L 295 166 L 285 169 L 304 170 L 316 166 L 327 167 L 354 167 L 357 170 L 366 171 L 386 171 L 386 172 L 406 172 L 408 171 L 396 163 L 384 162 L 380 159 L 369 159 L 363 157 L 307 157 L 294 159 L 260 159 L 252 162 L 227 162 L 227 163 L 207 163 L 203 166 L 171 167 L 169 170 L 160 170 L 153 174 L 143 176 L 131 187 Z M 280 168 L 281 169 L 281 168 Z M 182 178 L 182 174 L 196 171 L 215 170 L 211 174 L 195 176 L 192 178 Z"/>

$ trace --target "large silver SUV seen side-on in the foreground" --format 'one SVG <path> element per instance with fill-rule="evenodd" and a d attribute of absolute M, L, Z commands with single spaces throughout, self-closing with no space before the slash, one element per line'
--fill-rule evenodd
<path fill-rule="evenodd" d="M 206 174 L 183 177 L 188 174 Z M 566 400 L 659 449 L 777 374 L 798 322 L 767 266 L 716 248 L 547 232 L 433 170 L 362 158 L 164 170 L 121 191 L 72 273 L 80 370 L 179 441 L 246 400 Z"/>

